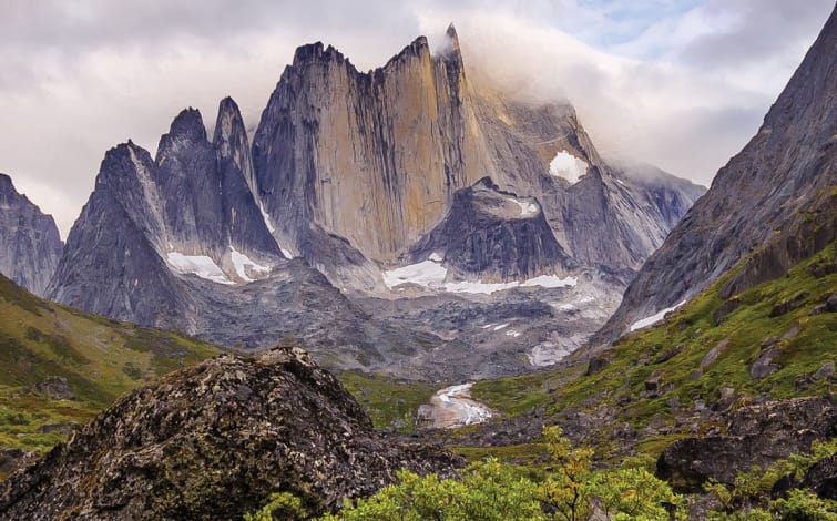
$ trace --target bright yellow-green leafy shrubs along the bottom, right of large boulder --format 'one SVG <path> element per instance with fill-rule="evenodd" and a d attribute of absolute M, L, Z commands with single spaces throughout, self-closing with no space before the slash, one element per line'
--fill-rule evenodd
<path fill-rule="evenodd" d="M 683 515 L 683 499 L 642 467 L 615 471 L 591 470 L 592 450 L 573 448 L 561 429 L 544 430 L 552 467 L 539 477 L 489 459 L 471 463 L 457 479 L 398 473 L 398 483 L 368 499 L 346 502 L 327 521 L 470 521 L 588 519 L 598 505 L 608 520 L 668 520 Z M 271 502 L 245 520 L 305 519 L 299 501 L 274 494 Z"/>

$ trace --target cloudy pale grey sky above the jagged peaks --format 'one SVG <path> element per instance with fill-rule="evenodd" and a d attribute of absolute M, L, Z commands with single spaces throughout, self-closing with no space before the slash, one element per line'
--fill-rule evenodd
<path fill-rule="evenodd" d="M 303 43 L 360 70 L 459 32 L 516 95 L 569 99 L 594 143 L 708 185 L 755 133 L 834 0 L 0 0 L 0 172 L 70 231 L 104 152 L 156 150 L 232 95 L 255 126 Z M 476 78 L 472 78 L 476 80 Z M 486 79 L 483 79 L 486 81 Z"/>

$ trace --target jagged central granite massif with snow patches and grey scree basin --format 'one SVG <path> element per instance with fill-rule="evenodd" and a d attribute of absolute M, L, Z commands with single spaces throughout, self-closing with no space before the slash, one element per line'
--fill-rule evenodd
<path fill-rule="evenodd" d="M 369 72 L 315 43 L 252 144 L 227 98 L 212 141 L 187 109 L 154 157 L 108 151 L 45 295 L 229 347 L 295 337 L 330 368 L 407 372 L 484 344 L 490 372 L 439 376 L 508 374 L 593 333 L 703 192 L 611 166 L 568 103 L 472 84 L 452 25 L 441 50 L 420 37 Z M 476 305 L 503 323 L 469 325 Z"/>

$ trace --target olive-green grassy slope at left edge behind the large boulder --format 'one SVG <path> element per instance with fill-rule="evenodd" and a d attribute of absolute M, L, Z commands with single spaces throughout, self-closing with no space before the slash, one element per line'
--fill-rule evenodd
<path fill-rule="evenodd" d="M 217 349 L 42 300 L 0 275 L 0 448 L 43 452 L 119 395 Z M 37 386 L 67 379 L 74 399 Z M 63 428 L 62 428 L 63 427 Z"/>

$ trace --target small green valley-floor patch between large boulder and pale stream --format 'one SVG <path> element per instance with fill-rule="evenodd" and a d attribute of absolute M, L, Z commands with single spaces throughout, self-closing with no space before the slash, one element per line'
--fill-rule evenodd
<path fill-rule="evenodd" d="M 445 387 L 359 371 L 340 372 L 337 379 L 366 408 L 376 429 L 399 432 L 415 431 L 418 408 L 429 403 L 433 392 Z"/>

